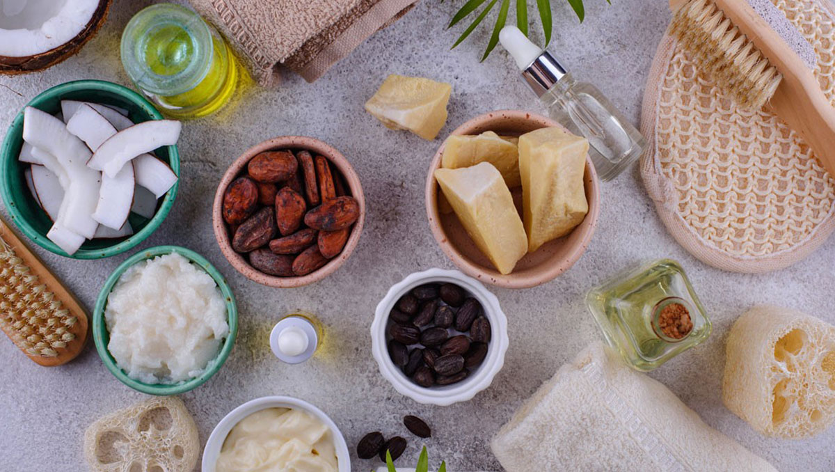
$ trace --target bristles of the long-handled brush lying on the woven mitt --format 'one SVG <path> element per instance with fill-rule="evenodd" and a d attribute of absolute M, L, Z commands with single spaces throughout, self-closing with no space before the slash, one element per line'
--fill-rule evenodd
<path fill-rule="evenodd" d="M 744 2 L 745 0 L 738 0 Z M 782 75 L 712 0 L 690 0 L 676 11 L 671 33 L 691 58 L 747 109 L 761 109 Z"/>

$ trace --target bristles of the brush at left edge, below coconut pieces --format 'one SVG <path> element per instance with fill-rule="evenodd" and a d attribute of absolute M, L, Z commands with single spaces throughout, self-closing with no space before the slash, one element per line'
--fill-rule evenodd
<path fill-rule="evenodd" d="M 11 247 L 0 245 L 0 325 L 18 348 L 31 356 L 58 356 L 75 339 L 69 329 L 76 321 Z"/>

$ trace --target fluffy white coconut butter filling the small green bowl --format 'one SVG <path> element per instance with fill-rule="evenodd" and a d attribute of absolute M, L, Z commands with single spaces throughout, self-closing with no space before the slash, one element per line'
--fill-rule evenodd
<path fill-rule="evenodd" d="M 116 365 L 143 383 L 199 376 L 229 335 L 215 280 L 175 252 L 129 267 L 110 292 L 104 319 Z"/>

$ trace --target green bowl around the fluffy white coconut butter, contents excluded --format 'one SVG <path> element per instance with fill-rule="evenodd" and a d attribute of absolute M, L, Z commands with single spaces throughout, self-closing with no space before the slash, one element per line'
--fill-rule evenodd
<path fill-rule="evenodd" d="M 129 378 L 128 374 L 124 373 L 124 371 L 116 365 L 115 359 L 110 355 L 110 352 L 107 349 L 107 345 L 110 342 L 110 335 L 107 331 L 107 324 L 104 322 L 104 308 L 107 307 L 107 299 L 110 296 L 110 291 L 113 290 L 114 285 L 116 285 L 116 282 L 119 281 L 119 277 L 122 277 L 122 274 L 128 269 L 128 267 L 146 259 L 150 259 L 155 256 L 164 256 L 165 254 L 170 254 L 172 252 L 176 252 L 180 254 L 180 256 L 184 256 L 192 263 L 200 266 L 211 276 L 211 278 L 215 279 L 215 283 L 218 287 L 220 287 L 220 292 L 226 299 L 226 315 L 228 317 L 227 322 L 229 323 L 229 336 L 227 336 L 223 343 L 220 344 L 220 350 L 217 353 L 217 357 L 209 363 L 209 366 L 205 369 L 203 375 L 200 375 L 200 377 L 171 384 L 142 383 L 134 378 Z M 200 254 L 195 251 L 191 251 L 190 249 L 185 249 L 185 247 L 180 246 L 150 247 L 144 251 L 137 252 L 133 256 L 130 256 L 127 261 L 122 262 L 120 266 L 116 267 L 116 270 L 110 275 L 107 282 L 104 282 L 104 287 L 102 287 L 102 291 L 99 292 L 99 299 L 96 300 L 96 307 L 93 313 L 93 339 L 96 343 L 96 351 L 99 352 L 99 357 L 102 358 L 104 365 L 108 368 L 110 373 L 113 373 L 114 376 L 119 379 L 119 382 L 124 383 L 128 387 L 138 390 L 139 392 L 148 393 L 149 395 L 177 395 L 188 392 L 189 390 L 197 388 L 205 383 L 205 381 L 215 375 L 215 373 L 220 370 L 220 366 L 226 362 L 226 358 L 229 357 L 229 353 L 232 351 L 232 346 L 235 344 L 235 336 L 237 333 L 238 308 L 235 305 L 235 295 L 232 294 L 232 289 L 229 287 L 229 284 L 226 283 L 225 277 L 223 277 L 220 272 L 217 272 L 215 266 L 212 266 L 211 263 L 206 261 L 203 256 L 200 256 Z"/>

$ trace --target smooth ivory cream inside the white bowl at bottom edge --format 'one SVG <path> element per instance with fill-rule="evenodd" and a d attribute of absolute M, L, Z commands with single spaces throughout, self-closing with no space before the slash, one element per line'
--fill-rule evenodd
<path fill-rule="evenodd" d="M 331 429 L 301 409 L 257 411 L 229 432 L 215 472 L 337 472 Z"/>

